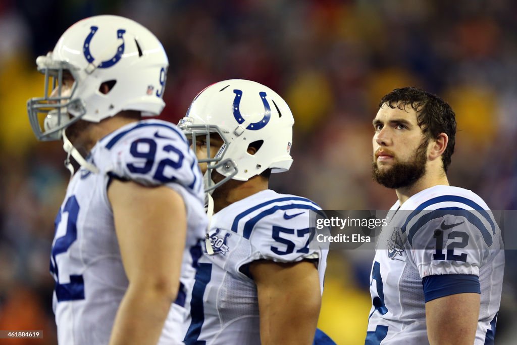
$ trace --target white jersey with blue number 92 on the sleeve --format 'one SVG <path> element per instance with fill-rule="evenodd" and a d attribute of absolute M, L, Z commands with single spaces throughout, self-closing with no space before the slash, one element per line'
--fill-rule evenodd
<path fill-rule="evenodd" d="M 84 168 L 75 173 L 55 221 L 50 266 L 56 281 L 53 307 L 58 342 L 109 342 L 128 287 L 107 196 L 110 182 L 117 178 L 145 186 L 166 185 L 184 199 L 188 229 L 180 290 L 160 338 L 160 344 L 181 343 L 195 275 L 192 257 L 208 225 L 202 175 L 194 153 L 175 125 L 148 119 L 101 139 L 88 161 L 100 173 Z"/>

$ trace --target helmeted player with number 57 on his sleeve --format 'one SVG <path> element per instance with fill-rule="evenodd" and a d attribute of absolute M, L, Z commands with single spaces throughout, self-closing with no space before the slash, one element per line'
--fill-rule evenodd
<path fill-rule="evenodd" d="M 211 217 L 185 343 L 312 344 L 327 250 L 312 244 L 313 201 L 268 188 L 293 162 L 294 119 L 270 88 L 225 80 L 179 127 L 204 173 Z M 213 199 L 212 199 L 213 198 Z"/>

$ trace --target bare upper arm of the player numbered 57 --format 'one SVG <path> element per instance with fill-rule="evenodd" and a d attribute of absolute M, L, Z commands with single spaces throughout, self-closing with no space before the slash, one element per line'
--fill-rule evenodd
<path fill-rule="evenodd" d="M 254 261 L 263 345 L 311 345 L 320 315 L 320 279 L 312 262 Z"/>

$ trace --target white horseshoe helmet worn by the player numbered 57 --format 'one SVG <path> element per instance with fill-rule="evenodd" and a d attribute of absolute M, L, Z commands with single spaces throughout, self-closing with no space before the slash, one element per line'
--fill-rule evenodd
<path fill-rule="evenodd" d="M 206 136 L 210 152 L 210 133 L 224 141 L 215 157 L 206 162 L 205 191 L 219 187 L 229 179 L 248 181 L 266 169 L 278 173 L 289 170 L 294 118 L 287 103 L 262 84 L 242 79 L 212 84 L 199 93 L 178 126 L 191 138 Z M 248 147 L 258 148 L 255 154 Z M 195 151 L 195 146 L 194 146 Z M 211 170 L 225 178 L 214 183 Z"/>

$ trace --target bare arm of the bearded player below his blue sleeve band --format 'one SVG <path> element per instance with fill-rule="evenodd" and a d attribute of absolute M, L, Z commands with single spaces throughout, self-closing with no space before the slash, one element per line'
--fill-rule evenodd
<path fill-rule="evenodd" d="M 480 294 L 460 293 L 425 304 L 427 334 L 431 345 L 472 345 L 476 337 Z"/>

